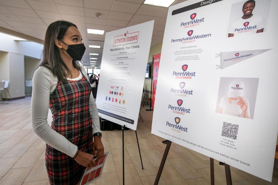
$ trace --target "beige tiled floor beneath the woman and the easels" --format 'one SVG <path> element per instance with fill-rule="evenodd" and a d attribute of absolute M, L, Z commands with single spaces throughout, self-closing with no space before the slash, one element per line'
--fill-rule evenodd
<path fill-rule="evenodd" d="M 44 165 L 45 142 L 32 131 L 30 121 L 31 97 L 0 103 L 0 184 L 47 185 Z M 162 138 L 151 134 L 152 112 L 141 110 L 144 122 L 138 121 L 137 134 L 144 170 L 141 169 L 136 135 L 124 131 L 125 184 L 154 184 L 165 145 Z M 51 119 L 51 117 L 49 116 Z M 101 179 L 92 185 L 122 184 L 122 133 L 120 130 L 103 131 L 102 142 L 109 155 Z M 172 143 L 160 185 L 209 185 L 209 158 Z M 215 184 L 224 185 L 223 166 L 214 162 Z M 278 184 L 278 170 L 273 172 L 272 183 L 231 167 L 234 185 Z"/>

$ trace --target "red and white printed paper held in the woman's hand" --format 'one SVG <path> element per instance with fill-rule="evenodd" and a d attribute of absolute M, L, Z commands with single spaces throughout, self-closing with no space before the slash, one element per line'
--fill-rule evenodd
<path fill-rule="evenodd" d="M 105 160 L 108 156 L 108 151 L 104 152 L 99 162 L 96 162 L 91 168 L 87 168 L 82 176 L 80 185 L 88 185 L 98 179 L 101 176 L 102 169 L 104 167 Z M 95 158 L 96 160 L 96 158 Z"/>

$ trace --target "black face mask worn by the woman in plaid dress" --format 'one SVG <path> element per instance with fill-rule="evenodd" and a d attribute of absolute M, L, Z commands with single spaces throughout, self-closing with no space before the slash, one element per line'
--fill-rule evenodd
<path fill-rule="evenodd" d="M 61 41 L 61 42 L 64 43 L 63 41 Z M 64 44 L 67 45 L 66 43 L 64 43 Z M 68 46 L 67 50 L 65 50 L 64 48 L 62 48 L 62 49 L 65 50 L 73 60 L 80 61 L 86 50 L 86 47 L 84 46 L 84 44 L 83 43 L 82 44 L 71 44 L 71 45 L 67 45 L 67 46 Z"/>

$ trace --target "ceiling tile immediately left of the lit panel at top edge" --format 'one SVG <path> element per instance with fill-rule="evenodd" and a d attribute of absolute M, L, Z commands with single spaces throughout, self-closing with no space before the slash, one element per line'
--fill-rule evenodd
<path fill-rule="evenodd" d="M 115 0 L 112 6 L 112 11 L 134 14 L 140 6 L 140 4 Z"/>

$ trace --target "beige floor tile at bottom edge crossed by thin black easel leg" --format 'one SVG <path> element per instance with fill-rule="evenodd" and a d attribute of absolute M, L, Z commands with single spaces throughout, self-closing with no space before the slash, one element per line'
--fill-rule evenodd
<path fill-rule="evenodd" d="M 120 184 L 123 184 L 123 165 L 117 164 L 116 171 Z M 133 163 L 124 164 L 124 184 L 126 185 L 143 185 Z"/>

